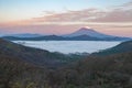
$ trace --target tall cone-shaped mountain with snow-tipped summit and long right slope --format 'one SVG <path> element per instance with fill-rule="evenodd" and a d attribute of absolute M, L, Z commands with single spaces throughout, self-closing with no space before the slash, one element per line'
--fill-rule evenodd
<path fill-rule="evenodd" d="M 129 37 L 120 37 L 120 36 L 113 36 L 113 35 L 107 35 L 100 32 L 97 32 L 92 29 L 88 29 L 88 28 L 81 28 L 78 31 L 70 33 L 70 34 L 66 34 L 63 35 L 64 37 L 75 37 L 75 36 L 89 36 L 89 37 L 95 37 L 101 41 L 127 41 L 130 40 Z M 91 38 L 92 40 L 92 38 Z"/>

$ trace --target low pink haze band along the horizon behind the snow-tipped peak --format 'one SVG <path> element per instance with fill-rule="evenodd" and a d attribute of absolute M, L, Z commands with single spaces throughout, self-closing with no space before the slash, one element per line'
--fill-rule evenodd
<path fill-rule="evenodd" d="M 72 24 L 72 25 L 58 25 L 58 24 L 43 24 L 43 25 L 18 25 L 18 26 L 4 26 L 0 28 L 0 33 L 40 33 L 40 34 L 68 34 L 79 30 L 82 26 L 90 26 L 91 29 L 105 34 L 131 36 L 132 26 L 128 24 L 113 24 L 113 23 L 89 23 L 89 24 Z"/>

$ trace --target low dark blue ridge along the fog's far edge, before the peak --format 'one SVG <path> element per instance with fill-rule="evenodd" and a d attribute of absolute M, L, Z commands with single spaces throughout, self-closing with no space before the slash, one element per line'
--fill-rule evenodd
<path fill-rule="evenodd" d="M 15 36 L 3 36 L 2 38 L 4 40 L 10 40 L 10 41 L 124 41 L 128 38 L 118 38 L 118 37 L 112 37 L 112 38 L 98 38 L 98 37 L 92 37 L 89 35 L 78 35 L 78 36 L 73 36 L 73 37 L 65 37 L 65 36 L 58 36 L 58 35 L 46 35 L 46 36 L 38 36 L 38 37 L 15 37 Z"/>

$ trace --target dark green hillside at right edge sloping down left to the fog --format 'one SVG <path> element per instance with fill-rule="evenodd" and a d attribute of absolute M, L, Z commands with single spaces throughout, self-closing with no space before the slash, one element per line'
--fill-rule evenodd
<path fill-rule="evenodd" d="M 119 54 L 119 53 L 129 53 L 132 52 L 132 41 L 123 42 L 114 47 L 100 51 L 98 53 L 94 53 L 92 55 L 111 55 L 111 54 Z"/>

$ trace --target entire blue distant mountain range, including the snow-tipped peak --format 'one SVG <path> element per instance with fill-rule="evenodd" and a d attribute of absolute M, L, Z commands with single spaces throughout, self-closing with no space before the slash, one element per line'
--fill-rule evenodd
<path fill-rule="evenodd" d="M 11 41 L 129 41 L 130 37 L 120 37 L 107 35 L 92 29 L 81 28 L 78 31 L 65 35 L 40 35 L 40 34 L 20 34 L 7 35 L 6 40 Z"/>

